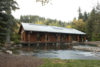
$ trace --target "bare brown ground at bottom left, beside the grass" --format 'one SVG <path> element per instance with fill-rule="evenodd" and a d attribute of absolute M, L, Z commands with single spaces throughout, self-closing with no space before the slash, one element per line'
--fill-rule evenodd
<path fill-rule="evenodd" d="M 15 56 L 0 53 L 0 67 L 39 67 L 43 61 L 32 56 Z"/>

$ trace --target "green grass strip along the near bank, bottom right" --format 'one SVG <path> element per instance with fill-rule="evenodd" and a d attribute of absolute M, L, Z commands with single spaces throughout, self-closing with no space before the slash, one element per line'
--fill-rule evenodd
<path fill-rule="evenodd" d="M 100 67 L 100 60 L 43 59 L 41 67 Z"/>

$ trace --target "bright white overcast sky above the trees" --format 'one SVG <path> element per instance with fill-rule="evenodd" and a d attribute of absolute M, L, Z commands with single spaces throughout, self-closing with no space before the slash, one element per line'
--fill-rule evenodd
<path fill-rule="evenodd" d="M 57 19 L 70 22 L 78 17 L 79 7 L 84 11 L 90 12 L 99 0 L 50 0 L 48 4 L 42 6 L 35 0 L 16 0 L 20 9 L 13 11 L 15 18 L 21 15 L 37 15 L 40 17 Z"/>

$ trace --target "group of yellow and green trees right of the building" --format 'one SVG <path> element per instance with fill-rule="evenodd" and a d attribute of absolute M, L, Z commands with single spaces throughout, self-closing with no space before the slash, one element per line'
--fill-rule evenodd
<path fill-rule="evenodd" d="M 90 13 L 81 13 L 79 8 L 79 17 L 73 19 L 70 24 L 73 28 L 87 33 L 88 40 L 100 40 L 100 5 L 99 3 Z"/>

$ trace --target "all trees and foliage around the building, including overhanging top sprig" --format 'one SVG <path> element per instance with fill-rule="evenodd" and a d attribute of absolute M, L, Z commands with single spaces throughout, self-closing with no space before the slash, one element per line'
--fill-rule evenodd
<path fill-rule="evenodd" d="M 43 5 L 49 0 L 36 0 Z M 86 11 L 82 13 L 81 8 L 78 10 L 78 19 L 74 18 L 72 22 L 62 22 L 56 19 L 45 19 L 39 16 L 26 15 L 21 16 L 19 20 L 15 20 L 11 15 L 12 10 L 18 9 L 17 3 L 14 0 L 0 0 L 0 44 L 8 39 L 18 43 L 20 36 L 18 35 L 20 22 L 34 23 L 66 28 L 75 28 L 86 32 L 89 40 L 100 40 L 100 5 L 97 4 L 90 13 Z"/>

